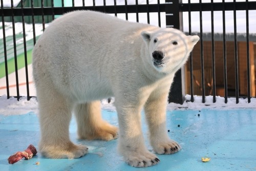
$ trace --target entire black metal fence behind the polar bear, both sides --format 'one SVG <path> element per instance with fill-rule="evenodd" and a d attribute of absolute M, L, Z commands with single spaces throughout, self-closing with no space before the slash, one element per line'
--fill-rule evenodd
<path fill-rule="evenodd" d="M 29 3 L 28 3 L 29 2 Z M 34 3 L 36 2 L 37 7 L 34 6 Z M 45 4 L 47 3 L 47 6 Z M 49 6 L 50 2 L 50 6 Z M 55 7 L 54 6 L 54 0 L 50 1 L 36 1 L 36 0 L 22 0 L 19 3 L 19 6 L 14 7 L 13 1 L 11 0 L 11 6 L 10 7 L 4 7 L 3 6 L 3 0 L 1 0 L 1 9 L 0 14 L 2 16 L 2 30 L 3 30 L 3 55 L 4 55 L 4 63 L 5 63 L 5 74 L 6 74 L 6 93 L 7 98 L 10 97 L 9 94 L 9 79 L 8 79 L 8 56 L 7 56 L 7 44 L 6 44 L 6 33 L 5 33 L 5 19 L 7 17 L 11 17 L 12 21 L 12 30 L 13 30 L 13 52 L 14 52 L 14 65 L 15 65 L 15 76 L 16 76 L 16 96 L 17 99 L 20 97 L 19 93 L 19 79 L 18 79 L 18 60 L 17 60 L 17 54 L 16 54 L 16 36 L 15 36 L 15 21 L 20 20 L 23 23 L 23 42 L 24 42 L 24 60 L 25 60 L 25 71 L 26 71 L 26 87 L 27 87 L 27 97 L 28 100 L 31 98 L 30 96 L 30 87 L 29 87 L 29 80 L 28 80 L 28 63 L 27 63 L 27 45 L 26 45 L 26 27 L 25 27 L 25 19 L 26 17 L 30 17 L 29 19 L 32 22 L 33 25 L 33 44 L 36 42 L 36 34 L 35 34 L 35 23 L 41 22 L 42 24 L 42 30 L 45 30 L 46 20 L 50 21 L 55 18 L 56 15 L 62 15 L 63 13 L 67 13 L 69 11 L 74 10 L 95 10 L 95 11 L 101 11 L 106 13 L 112 13 L 116 16 L 118 14 L 124 14 L 125 19 L 129 20 L 129 14 L 135 14 L 136 16 L 136 22 L 140 22 L 139 20 L 139 14 L 144 13 L 146 14 L 147 23 L 151 24 L 151 14 L 155 13 L 157 14 L 154 17 L 157 17 L 158 20 L 158 26 L 159 27 L 174 27 L 177 29 L 182 29 L 183 22 L 182 22 L 182 12 L 188 12 L 188 23 L 189 23 L 189 33 L 193 34 L 191 32 L 191 12 L 198 11 L 200 13 L 200 55 L 201 55 L 201 87 L 202 87 L 202 102 L 205 102 L 205 83 L 204 83 L 204 36 L 203 36 L 203 30 L 202 30 L 202 11 L 210 11 L 211 12 L 211 50 L 212 50 L 212 78 L 213 78 L 213 84 L 212 84 L 212 96 L 213 101 L 216 101 L 216 83 L 215 83 L 215 36 L 214 36 L 214 19 L 213 19 L 213 12 L 214 11 L 222 11 L 223 13 L 223 62 L 224 62 L 224 89 L 225 89 L 225 102 L 227 102 L 227 63 L 226 63 L 226 33 L 225 33 L 225 11 L 231 10 L 234 13 L 234 46 L 235 48 L 235 55 L 234 58 L 236 59 L 236 72 L 234 73 L 236 78 L 236 98 L 237 103 L 239 102 L 239 79 L 238 79 L 238 54 L 237 54 L 237 32 L 236 32 L 236 11 L 237 10 L 245 10 L 246 11 L 246 50 L 247 50 L 247 85 L 248 85 L 248 102 L 250 102 L 250 63 L 254 61 L 250 61 L 249 58 L 249 30 L 248 30 L 248 11 L 249 10 L 256 10 L 256 2 L 231 2 L 231 3 L 225 3 L 224 1 L 222 3 L 213 3 L 211 0 L 210 3 L 202 3 L 200 0 L 199 3 L 190 3 L 190 0 L 188 0 L 188 3 L 183 4 L 181 0 L 165 0 L 165 2 L 160 2 L 160 0 L 157 0 L 155 2 L 150 2 L 148 0 L 145 1 L 144 4 L 138 4 L 138 0 L 134 1 L 134 4 L 127 4 L 127 0 L 123 1 L 123 4 L 117 5 L 117 1 L 113 0 L 111 5 L 106 4 L 105 0 L 102 0 L 102 5 L 97 5 L 95 0 L 92 1 L 92 6 L 86 6 L 86 3 L 84 0 L 81 1 L 81 6 L 76 6 L 75 1 L 72 1 L 72 6 L 66 7 L 63 0 L 61 0 L 61 7 Z M 27 5 L 27 6 L 24 6 Z M 38 6 L 38 4 L 40 4 Z M 164 22 L 162 17 L 162 13 L 164 13 Z M 19 18 L 17 18 L 19 17 Z M 37 19 L 35 19 L 37 17 Z M 41 19 L 38 20 L 38 17 Z M 47 19 L 46 19 L 47 18 Z M 16 20 L 15 20 L 16 19 Z M 163 24 L 163 23 L 164 24 Z M 193 55 L 190 56 L 190 94 L 191 94 L 191 101 L 194 101 L 194 80 L 193 80 Z M 169 102 L 176 102 L 176 103 L 183 103 L 184 101 L 184 71 L 179 70 L 176 73 L 175 81 L 172 86 L 172 94 L 169 95 Z"/>

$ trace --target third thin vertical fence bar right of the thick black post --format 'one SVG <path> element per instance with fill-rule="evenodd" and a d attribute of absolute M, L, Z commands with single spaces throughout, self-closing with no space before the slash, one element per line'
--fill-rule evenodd
<path fill-rule="evenodd" d="M 211 0 L 211 68 L 212 68 L 212 97 L 213 102 L 216 102 L 216 75 L 215 75 L 215 38 L 214 38 L 214 0 Z"/>

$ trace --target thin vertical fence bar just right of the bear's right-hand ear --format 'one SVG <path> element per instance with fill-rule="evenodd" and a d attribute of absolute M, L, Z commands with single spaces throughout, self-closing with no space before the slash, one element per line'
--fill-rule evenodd
<path fill-rule="evenodd" d="M 202 22 L 202 0 L 200 4 L 200 53 L 201 53 L 201 85 L 202 85 L 202 102 L 205 103 L 205 85 L 204 85 L 204 40 L 203 40 L 203 22 Z"/>

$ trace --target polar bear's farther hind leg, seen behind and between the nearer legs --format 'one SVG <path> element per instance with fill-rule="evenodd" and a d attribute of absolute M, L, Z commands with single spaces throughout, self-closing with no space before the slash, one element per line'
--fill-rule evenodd
<path fill-rule="evenodd" d="M 100 101 L 77 104 L 74 110 L 80 139 L 113 140 L 117 127 L 102 120 Z"/>

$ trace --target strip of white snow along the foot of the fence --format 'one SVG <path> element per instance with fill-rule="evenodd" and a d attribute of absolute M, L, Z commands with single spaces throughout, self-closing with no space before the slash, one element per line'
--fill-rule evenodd
<path fill-rule="evenodd" d="M 240 98 L 239 103 L 236 104 L 236 98 L 228 98 L 228 102 L 224 102 L 224 97 L 216 97 L 216 103 L 212 102 L 212 96 L 206 96 L 206 102 L 202 103 L 201 96 L 194 96 L 195 102 L 190 102 L 191 96 L 185 96 L 185 102 L 181 104 L 170 103 L 167 106 L 168 111 L 172 110 L 202 110 L 202 109 L 211 109 L 211 110 L 230 110 L 230 109 L 256 109 L 256 98 L 251 98 L 251 102 L 248 103 L 247 99 Z M 108 99 L 101 101 L 102 109 L 109 111 L 116 111 L 115 106 L 113 105 L 114 99 L 112 98 L 111 102 L 108 103 Z M 7 99 L 7 96 L 0 97 L 0 115 L 22 115 L 33 112 L 38 114 L 38 105 L 36 98 L 31 98 L 27 101 L 27 97 L 20 98 L 17 101 L 16 98 Z"/>

